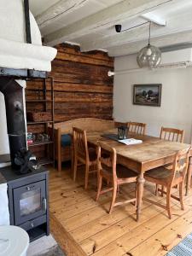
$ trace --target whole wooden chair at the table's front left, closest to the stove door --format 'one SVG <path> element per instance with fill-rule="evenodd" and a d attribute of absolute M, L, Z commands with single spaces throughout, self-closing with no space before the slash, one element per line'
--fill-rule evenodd
<path fill-rule="evenodd" d="M 137 201 L 137 189 L 136 196 L 133 199 L 115 202 L 117 190 L 119 185 L 125 183 L 136 183 L 137 182 L 137 173 L 131 171 L 125 166 L 117 165 L 117 154 L 115 148 L 111 148 L 105 143 L 98 143 L 98 153 L 97 153 L 97 168 L 98 168 L 98 184 L 97 184 L 97 194 L 96 201 L 99 199 L 99 196 L 107 193 L 108 191 L 113 191 L 113 197 L 111 201 L 111 206 L 109 212 L 111 213 L 113 207 Z M 106 179 L 108 185 L 111 185 L 108 189 L 102 190 L 102 179 Z"/>

